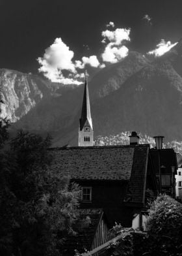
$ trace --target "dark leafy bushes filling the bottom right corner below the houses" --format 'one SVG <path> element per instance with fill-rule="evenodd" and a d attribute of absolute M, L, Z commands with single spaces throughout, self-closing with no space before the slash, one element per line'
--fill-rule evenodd
<path fill-rule="evenodd" d="M 182 204 L 160 195 L 151 202 L 146 225 L 148 232 L 135 232 L 116 223 L 109 239 L 120 238 L 111 240 L 101 255 L 182 256 Z"/>

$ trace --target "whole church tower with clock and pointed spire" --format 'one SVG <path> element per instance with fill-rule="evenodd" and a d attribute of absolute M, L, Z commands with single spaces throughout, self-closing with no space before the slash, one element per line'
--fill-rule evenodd
<path fill-rule="evenodd" d="M 88 82 L 85 75 L 85 89 L 83 94 L 83 105 L 81 118 L 79 120 L 79 146 L 93 146 L 94 129 L 90 112 L 90 99 L 88 94 Z"/>

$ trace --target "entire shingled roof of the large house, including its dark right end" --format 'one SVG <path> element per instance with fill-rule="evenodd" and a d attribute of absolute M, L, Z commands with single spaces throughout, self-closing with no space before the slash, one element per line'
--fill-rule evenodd
<path fill-rule="evenodd" d="M 144 203 L 149 144 L 51 148 L 51 170 L 72 180 L 127 181 L 125 202 Z"/>

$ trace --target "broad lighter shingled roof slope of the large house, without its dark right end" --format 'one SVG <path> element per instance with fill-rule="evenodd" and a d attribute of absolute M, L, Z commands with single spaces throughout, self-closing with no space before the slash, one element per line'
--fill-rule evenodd
<path fill-rule="evenodd" d="M 79 180 L 129 180 L 135 148 L 93 146 L 55 148 L 51 169 Z"/>

